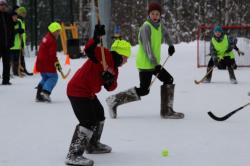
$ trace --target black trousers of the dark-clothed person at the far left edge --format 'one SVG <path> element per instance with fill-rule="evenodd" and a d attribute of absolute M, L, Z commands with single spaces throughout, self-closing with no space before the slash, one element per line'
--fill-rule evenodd
<path fill-rule="evenodd" d="M 10 81 L 10 52 L 4 51 L 0 52 L 0 57 L 2 57 L 3 62 L 3 81 L 2 83 L 8 83 Z"/>

